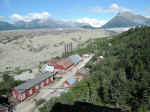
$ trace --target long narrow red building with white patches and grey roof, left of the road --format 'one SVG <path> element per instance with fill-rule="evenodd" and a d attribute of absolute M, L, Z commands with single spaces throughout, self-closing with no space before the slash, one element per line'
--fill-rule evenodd
<path fill-rule="evenodd" d="M 53 75 L 50 73 L 41 74 L 35 79 L 29 80 L 17 87 L 12 91 L 13 98 L 22 102 L 28 97 L 37 93 L 40 88 L 53 82 Z"/>

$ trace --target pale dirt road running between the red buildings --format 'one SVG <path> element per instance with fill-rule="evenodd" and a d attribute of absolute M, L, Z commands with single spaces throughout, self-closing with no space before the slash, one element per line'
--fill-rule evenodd
<path fill-rule="evenodd" d="M 75 75 L 77 70 L 84 67 L 92 57 L 93 57 L 93 55 L 91 55 L 89 58 L 87 58 L 84 61 L 82 61 L 81 63 L 79 63 L 76 67 L 73 67 L 73 69 L 71 71 L 68 71 L 67 73 L 65 73 L 63 75 L 62 79 L 60 79 L 59 81 L 55 82 L 52 85 L 50 84 L 49 86 L 41 89 L 40 93 L 37 94 L 36 96 L 33 96 L 30 99 L 27 99 L 26 101 L 18 104 L 16 106 L 16 112 L 33 112 L 35 110 L 34 99 L 39 100 L 42 98 L 42 99 L 45 99 L 46 101 L 48 101 L 52 97 L 60 96 L 60 94 L 61 94 L 61 92 L 63 92 L 63 90 L 58 90 L 58 89 L 50 90 L 49 88 L 60 88 L 60 87 L 62 87 L 64 81 L 67 80 L 69 77 Z"/>

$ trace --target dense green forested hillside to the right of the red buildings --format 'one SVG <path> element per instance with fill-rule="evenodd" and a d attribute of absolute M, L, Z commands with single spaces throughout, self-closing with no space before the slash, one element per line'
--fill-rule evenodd
<path fill-rule="evenodd" d="M 75 51 L 95 53 L 87 65 L 88 76 L 74 85 L 76 88 L 49 101 L 40 111 L 53 111 L 56 103 L 73 105 L 77 101 L 128 112 L 150 111 L 150 27 L 130 29 L 118 36 L 88 43 L 86 48 Z M 101 55 L 104 59 L 94 63 Z M 88 111 L 88 107 L 86 109 Z"/>

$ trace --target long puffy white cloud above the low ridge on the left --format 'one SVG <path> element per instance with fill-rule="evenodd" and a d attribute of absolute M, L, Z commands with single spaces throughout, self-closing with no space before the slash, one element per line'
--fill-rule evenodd
<path fill-rule="evenodd" d="M 16 21 L 25 21 L 25 22 L 30 22 L 35 19 L 48 19 L 51 17 L 51 14 L 48 12 L 41 12 L 41 13 L 28 13 L 26 15 L 20 15 L 20 14 L 12 14 L 10 16 L 11 19 L 16 20 Z"/>

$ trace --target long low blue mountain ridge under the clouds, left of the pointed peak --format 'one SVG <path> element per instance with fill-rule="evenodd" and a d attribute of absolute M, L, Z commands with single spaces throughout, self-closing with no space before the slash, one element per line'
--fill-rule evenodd
<path fill-rule="evenodd" d="M 53 19 L 35 19 L 30 22 L 25 21 L 17 21 L 14 24 L 10 24 L 7 22 L 0 22 L 0 30 L 12 30 L 12 29 L 73 29 L 73 28 L 82 28 L 88 24 L 85 23 L 77 23 L 72 21 L 59 21 Z"/>

